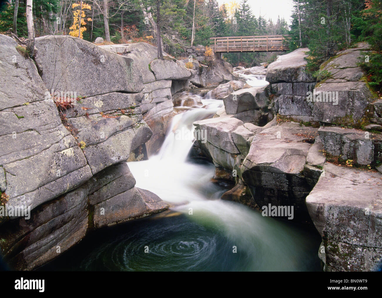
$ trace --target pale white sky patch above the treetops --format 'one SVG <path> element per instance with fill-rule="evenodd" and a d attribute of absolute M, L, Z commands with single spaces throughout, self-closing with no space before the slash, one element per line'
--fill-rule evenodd
<path fill-rule="evenodd" d="M 231 0 L 219 0 L 219 4 L 228 3 Z M 236 0 L 240 3 L 240 0 Z M 248 0 L 248 4 L 252 7 L 252 12 L 256 17 L 261 14 L 267 21 L 271 18 L 273 21 L 277 17 L 285 18 L 285 21 L 290 24 L 290 16 L 292 14 L 292 0 Z"/>

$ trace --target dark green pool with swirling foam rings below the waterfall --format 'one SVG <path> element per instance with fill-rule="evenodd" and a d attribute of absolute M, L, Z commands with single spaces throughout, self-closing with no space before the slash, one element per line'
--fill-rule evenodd
<path fill-rule="evenodd" d="M 170 215 L 140 219 L 98 231 L 40 270 L 320 270 L 317 257 L 320 237 L 313 229 L 286 226 L 285 221 L 271 219 L 273 224 L 283 227 L 278 235 L 258 234 L 257 231 L 253 237 L 240 240 L 227 236 L 219 224 L 200 223 L 183 214 Z M 274 237 L 278 239 L 271 243 Z M 236 246 L 236 253 L 233 246 Z"/>

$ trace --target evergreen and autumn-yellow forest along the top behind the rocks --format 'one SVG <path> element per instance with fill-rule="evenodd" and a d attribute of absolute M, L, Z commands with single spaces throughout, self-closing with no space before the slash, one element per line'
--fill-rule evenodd
<path fill-rule="evenodd" d="M 159 23 L 163 50 L 175 57 L 184 56 L 190 46 L 209 45 L 210 37 L 288 35 L 291 51 L 309 48 L 308 69 L 319 77 L 325 77 L 319 70 L 325 59 L 366 41 L 374 52 L 360 64 L 368 72 L 370 85 L 381 89 L 382 2 L 293 0 L 293 3 L 290 20 L 255 16 L 248 0 L 231 0 L 222 5 L 217 0 L 35 0 L 32 12 L 36 37 L 72 35 L 90 42 L 103 37 L 105 43 L 156 45 Z M 158 13 L 160 22 L 157 22 Z M 7 31 L 19 37 L 28 36 L 26 0 L 3 3 L 0 32 Z M 224 55 L 231 64 L 241 62 L 246 66 L 272 62 L 276 56 L 271 53 Z"/>

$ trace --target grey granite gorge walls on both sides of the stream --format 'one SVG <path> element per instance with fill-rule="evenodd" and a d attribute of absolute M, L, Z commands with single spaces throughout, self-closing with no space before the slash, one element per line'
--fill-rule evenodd
<path fill-rule="evenodd" d="M 381 100 L 357 66 L 367 45 L 325 62 L 331 76 L 321 82 L 305 72 L 307 49 L 232 69 L 221 59 L 204 65 L 196 47 L 188 69 L 188 59 L 156 59 L 147 43 L 46 36 L 35 46 L 33 61 L 0 35 L 0 188 L 8 205 L 31 207 L 28 220 L 1 218 L 1 253 L 16 270 L 46 264 L 95 229 L 171 207 L 136 187 L 125 161 L 159 152 L 182 113 L 174 106 L 202 106 L 192 86 L 223 104 L 194 122 L 193 147 L 214 164 L 216 181 L 232 184 L 222 199 L 293 206 L 293 220 L 312 221 L 322 238 L 325 271 L 380 268 Z M 269 84 L 248 85 L 245 75 Z M 64 106 L 55 91 L 76 97 Z M 309 92 L 330 92 L 337 104 L 309 101 Z"/>

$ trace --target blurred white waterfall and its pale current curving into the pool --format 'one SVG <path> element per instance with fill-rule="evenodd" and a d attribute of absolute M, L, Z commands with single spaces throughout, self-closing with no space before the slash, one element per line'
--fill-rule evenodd
<path fill-rule="evenodd" d="M 204 100 L 203 104 L 208 104 L 208 108 L 190 109 L 173 118 L 158 155 L 128 163 L 136 186 L 159 195 L 170 203 L 172 210 L 225 234 L 230 244 L 224 249 L 232 250 L 235 245 L 248 259 L 240 270 L 311 270 L 316 252 L 312 256 L 309 243 L 312 239 L 306 232 L 285 221 L 263 217 L 259 211 L 239 203 L 221 200 L 224 190 L 211 181 L 214 166 L 186 161 L 193 141 L 175 139 L 174 131 L 184 128 L 193 135 L 193 122 L 211 117 L 222 106 L 222 101 Z M 189 215 L 190 208 L 193 215 Z"/>

